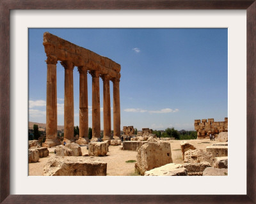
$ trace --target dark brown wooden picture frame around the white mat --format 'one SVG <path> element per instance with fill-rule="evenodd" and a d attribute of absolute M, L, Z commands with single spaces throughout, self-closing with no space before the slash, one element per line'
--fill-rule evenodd
<path fill-rule="evenodd" d="M 10 195 L 11 10 L 246 10 L 246 195 Z M 0 203 L 256 203 L 256 2 L 255 0 L 0 0 Z M 239 175 L 237 175 L 239 176 Z M 25 185 L 25 184 L 24 184 Z M 115 193 L 115 191 L 113 191 Z"/>

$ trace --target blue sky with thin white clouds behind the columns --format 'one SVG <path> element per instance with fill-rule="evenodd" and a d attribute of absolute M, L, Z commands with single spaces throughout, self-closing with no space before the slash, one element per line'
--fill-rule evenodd
<path fill-rule="evenodd" d="M 121 65 L 123 126 L 194 129 L 195 119 L 228 117 L 227 29 L 29 29 L 29 121 L 46 121 L 49 32 Z M 111 107 L 113 107 L 113 86 Z M 103 107 L 100 79 L 100 107 Z M 64 124 L 64 68 L 57 64 L 58 125 Z M 88 105 L 92 77 L 88 74 Z M 89 107 L 90 109 L 90 107 Z M 89 126 L 92 115 L 89 110 Z M 103 129 L 103 114 L 100 115 Z M 111 112 L 113 128 L 113 112 Z M 74 68 L 74 124 L 79 125 L 79 73 Z"/>

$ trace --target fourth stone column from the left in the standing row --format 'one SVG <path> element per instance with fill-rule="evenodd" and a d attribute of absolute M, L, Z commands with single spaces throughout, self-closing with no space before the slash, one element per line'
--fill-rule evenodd
<path fill-rule="evenodd" d="M 92 75 L 92 140 L 100 138 L 100 81 L 99 71 L 90 71 Z"/>

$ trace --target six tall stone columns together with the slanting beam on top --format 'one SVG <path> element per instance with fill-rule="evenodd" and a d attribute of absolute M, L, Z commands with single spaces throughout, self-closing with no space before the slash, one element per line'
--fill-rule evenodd
<path fill-rule="evenodd" d="M 44 33 L 44 48 L 47 55 L 47 99 L 46 99 L 46 140 L 43 147 L 60 145 L 57 140 L 57 90 L 56 64 L 60 61 L 65 69 L 64 101 L 64 140 L 74 142 L 74 89 L 73 69 L 79 71 L 79 140 L 86 144 L 88 140 L 88 90 L 87 73 L 92 75 L 92 141 L 100 138 L 100 87 L 99 78 L 103 80 L 103 140 L 111 139 L 111 107 L 109 80 L 113 82 L 113 127 L 114 138 L 120 138 L 120 64 L 107 57 L 87 50 L 58 38 L 51 33 Z"/>

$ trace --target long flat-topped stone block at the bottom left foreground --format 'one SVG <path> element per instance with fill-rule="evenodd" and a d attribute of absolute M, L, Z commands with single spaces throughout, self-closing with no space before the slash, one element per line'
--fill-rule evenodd
<path fill-rule="evenodd" d="M 107 163 L 88 157 L 50 157 L 44 176 L 106 176 Z"/>

